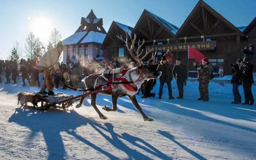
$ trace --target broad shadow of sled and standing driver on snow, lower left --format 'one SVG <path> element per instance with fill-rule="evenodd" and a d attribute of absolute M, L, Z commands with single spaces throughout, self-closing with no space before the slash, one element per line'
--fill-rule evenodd
<path fill-rule="evenodd" d="M 27 137 L 28 141 L 33 140 L 33 138 L 36 136 L 36 133 L 42 132 L 46 142 L 47 151 L 49 152 L 49 160 L 64 159 L 67 156 L 60 132 L 66 132 L 73 135 L 70 130 L 75 130 L 77 127 L 88 124 L 92 125 L 94 128 L 104 128 L 100 124 L 97 124 L 92 120 L 79 115 L 74 110 L 70 110 L 70 113 L 68 113 L 66 111 L 57 110 L 55 108 L 50 108 L 47 110 L 47 112 L 35 111 L 33 109 L 27 108 L 26 110 L 16 108 L 15 113 L 9 118 L 8 121 L 28 127 L 31 130 L 30 135 Z M 78 137 L 76 136 L 76 138 Z M 104 151 L 99 146 L 96 146 L 84 138 L 78 138 L 78 140 L 81 140 L 83 143 L 101 152 L 110 159 L 117 159 L 117 157 L 114 155 Z M 29 143 L 26 144 L 26 146 L 29 146 Z M 41 148 L 38 148 L 38 150 L 40 149 Z"/>

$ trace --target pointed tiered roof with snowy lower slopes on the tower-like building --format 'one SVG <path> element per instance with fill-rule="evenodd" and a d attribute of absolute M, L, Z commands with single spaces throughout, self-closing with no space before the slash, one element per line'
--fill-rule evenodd
<path fill-rule="evenodd" d="M 78 27 L 76 32 L 62 41 L 63 45 L 81 44 L 88 42 L 102 43 L 106 31 L 103 28 L 102 18 L 97 19 L 93 11 L 84 18 L 81 18 L 81 25 Z"/>

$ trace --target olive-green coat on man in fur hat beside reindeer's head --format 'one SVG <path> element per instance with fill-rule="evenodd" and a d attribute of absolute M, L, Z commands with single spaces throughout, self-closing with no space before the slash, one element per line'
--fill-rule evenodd
<path fill-rule="evenodd" d="M 156 70 L 162 72 L 160 76 L 160 82 L 166 83 L 172 81 L 173 75 L 171 64 L 169 64 L 169 61 L 166 61 L 166 64 L 164 64 L 163 61 L 161 61 Z"/>

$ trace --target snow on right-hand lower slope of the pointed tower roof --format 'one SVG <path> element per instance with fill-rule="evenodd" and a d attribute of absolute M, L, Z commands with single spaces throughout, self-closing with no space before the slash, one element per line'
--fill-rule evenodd
<path fill-rule="evenodd" d="M 96 43 L 103 43 L 104 39 L 106 37 L 106 34 L 90 31 L 88 35 L 82 40 L 81 43 L 87 43 L 87 42 L 96 42 Z"/>

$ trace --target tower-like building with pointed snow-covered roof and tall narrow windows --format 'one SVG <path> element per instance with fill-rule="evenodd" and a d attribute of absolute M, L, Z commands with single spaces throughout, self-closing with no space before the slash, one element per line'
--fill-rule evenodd
<path fill-rule="evenodd" d="M 97 19 L 92 10 L 86 18 L 82 17 L 76 32 L 62 41 L 63 61 L 84 62 L 103 57 L 104 51 L 100 48 L 107 33 L 102 25 L 102 18 Z"/>

